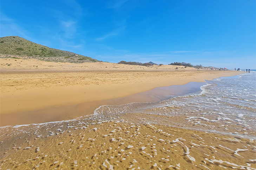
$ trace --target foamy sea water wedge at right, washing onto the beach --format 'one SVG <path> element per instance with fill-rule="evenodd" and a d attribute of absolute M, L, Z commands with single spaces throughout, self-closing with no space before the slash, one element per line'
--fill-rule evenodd
<path fill-rule="evenodd" d="M 161 102 L 101 106 L 94 115 L 256 139 L 256 72 L 206 80 L 196 92 Z"/>

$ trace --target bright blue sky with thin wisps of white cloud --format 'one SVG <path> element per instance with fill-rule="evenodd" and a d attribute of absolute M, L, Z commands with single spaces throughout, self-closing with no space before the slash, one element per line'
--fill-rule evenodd
<path fill-rule="evenodd" d="M 1 1 L 0 36 L 92 58 L 256 69 L 255 0 Z"/>

